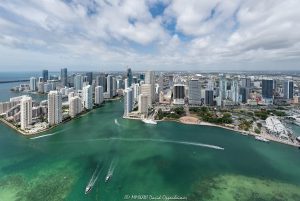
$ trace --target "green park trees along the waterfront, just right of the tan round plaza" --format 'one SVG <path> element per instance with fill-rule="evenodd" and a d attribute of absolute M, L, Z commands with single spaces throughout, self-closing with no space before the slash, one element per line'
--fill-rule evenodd
<path fill-rule="evenodd" d="M 233 122 L 231 114 L 228 112 L 223 113 L 223 115 L 219 117 L 207 107 L 192 107 L 190 108 L 190 111 L 196 113 L 203 121 L 207 121 L 209 123 L 231 124 Z"/>

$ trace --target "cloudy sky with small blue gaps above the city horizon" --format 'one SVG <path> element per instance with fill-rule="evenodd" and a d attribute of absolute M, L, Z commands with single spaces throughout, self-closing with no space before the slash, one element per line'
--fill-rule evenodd
<path fill-rule="evenodd" d="M 298 0 L 2 0 L 0 71 L 297 70 Z"/>

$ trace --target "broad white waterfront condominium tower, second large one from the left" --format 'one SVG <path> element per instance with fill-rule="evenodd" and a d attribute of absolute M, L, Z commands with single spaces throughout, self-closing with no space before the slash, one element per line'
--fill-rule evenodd
<path fill-rule="evenodd" d="M 58 91 L 48 93 L 48 123 L 50 126 L 62 122 L 62 95 Z"/>

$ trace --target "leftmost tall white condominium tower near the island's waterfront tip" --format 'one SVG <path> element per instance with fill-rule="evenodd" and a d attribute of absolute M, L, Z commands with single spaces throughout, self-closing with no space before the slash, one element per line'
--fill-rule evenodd
<path fill-rule="evenodd" d="M 32 98 L 24 96 L 20 102 L 21 129 L 25 130 L 32 123 Z"/>

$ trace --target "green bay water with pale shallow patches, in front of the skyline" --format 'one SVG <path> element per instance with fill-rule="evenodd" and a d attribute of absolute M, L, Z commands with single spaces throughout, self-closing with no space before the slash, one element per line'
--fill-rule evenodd
<path fill-rule="evenodd" d="M 122 102 L 107 103 L 35 139 L 0 125 L 0 200 L 110 201 L 126 195 L 300 200 L 296 148 L 221 128 L 175 122 L 146 125 L 122 119 L 122 113 Z M 176 143 L 182 141 L 224 150 Z M 112 160 L 117 165 L 105 183 Z M 102 172 L 85 195 L 97 164 Z"/>

